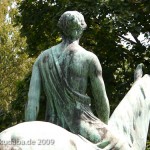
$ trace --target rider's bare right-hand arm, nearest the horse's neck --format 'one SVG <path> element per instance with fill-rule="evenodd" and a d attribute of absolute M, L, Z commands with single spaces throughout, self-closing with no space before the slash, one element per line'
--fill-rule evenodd
<path fill-rule="evenodd" d="M 102 77 L 102 67 L 96 55 L 92 55 L 90 63 L 90 80 L 98 118 L 107 124 L 110 106 Z"/>

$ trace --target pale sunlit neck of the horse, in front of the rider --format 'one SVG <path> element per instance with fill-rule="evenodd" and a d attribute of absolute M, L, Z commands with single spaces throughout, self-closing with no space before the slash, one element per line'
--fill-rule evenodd
<path fill-rule="evenodd" d="M 150 120 L 150 77 L 137 81 L 112 114 L 109 126 L 133 145 L 145 148 Z"/>

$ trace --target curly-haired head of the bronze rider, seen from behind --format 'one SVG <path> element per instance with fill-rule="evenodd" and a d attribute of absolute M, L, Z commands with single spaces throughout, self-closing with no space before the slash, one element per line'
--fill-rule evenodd
<path fill-rule="evenodd" d="M 78 11 L 66 11 L 58 21 L 63 38 L 77 40 L 81 37 L 83 30 L 86 29 L 84 17 Z"/>

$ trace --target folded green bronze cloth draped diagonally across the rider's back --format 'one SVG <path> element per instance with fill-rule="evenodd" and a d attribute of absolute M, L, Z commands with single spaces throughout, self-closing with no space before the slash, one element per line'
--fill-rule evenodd
<path fill-rule="evenodd" d="M 75 91 L 68 84 L 60 66 L 60 58 L 55 55 L 56 49 L 54 46 L 38 58 L 42 85 L 47 97 L 46 121 L 76 132 L 81 120 L 99 122 L 99 119 L 90 109 L 90 97 Z"/>

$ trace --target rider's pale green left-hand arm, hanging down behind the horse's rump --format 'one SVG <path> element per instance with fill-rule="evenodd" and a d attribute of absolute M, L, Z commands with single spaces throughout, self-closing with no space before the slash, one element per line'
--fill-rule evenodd
<path fill-rule="evenodd" d="M 39 112 L 39 101 L 41 93 L 41 77 L 38 62 L 33 65 L 32 76 L 28 93 L 28 103 L 25 110 L 25 121 L 34 121 Z"/>

